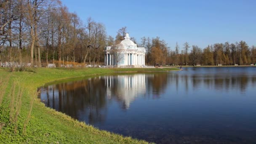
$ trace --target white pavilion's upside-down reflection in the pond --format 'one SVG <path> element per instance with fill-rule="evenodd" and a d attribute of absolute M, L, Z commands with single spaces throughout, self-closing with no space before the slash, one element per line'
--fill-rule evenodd
<path fill-rule="evenodd" d="M 146 93 L 145 74 L 105 76 L 107 97 L 117 96 L 124 107 L 130 107 L 138 95 Z"/>

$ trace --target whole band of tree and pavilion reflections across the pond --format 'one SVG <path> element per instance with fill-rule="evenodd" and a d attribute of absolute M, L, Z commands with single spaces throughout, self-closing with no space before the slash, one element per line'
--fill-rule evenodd
<path fill-rule="evenodd" d="M 108 99 L 115 99 L 122 109 L 131 107 L 137 96 L 160 98 L 167 87 L 176 91 L 207 88 L 213 91 L 246 91 L 256 85 L 253 75 L 156 73 L 94 77 L 76 82 L 49 85 L 42 91 L 45 104 L 90 124 L 104 121 Z M 179 89 L 178 89 L 179 87 Z M 43 90 L 43 88 L 42 88 Z"/>

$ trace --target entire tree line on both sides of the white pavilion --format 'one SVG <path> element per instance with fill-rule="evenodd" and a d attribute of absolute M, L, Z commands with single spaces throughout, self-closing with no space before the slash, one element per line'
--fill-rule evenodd
<path fill-rule="evenodd" d="M 104 48 L 124 39 L 127 28 L 108 36 L 104 24 L 81 21 L 59 0 L 0 0 L 0 61 L 103 64 Z M 131 37 L 134 43 L 136 39 Z M 172 50 L 160 37 L 142 37 L 147 65 L 255 64 L 256 47 L 245 41 L 216 43 L 206 48 L 184 43 Z"/>

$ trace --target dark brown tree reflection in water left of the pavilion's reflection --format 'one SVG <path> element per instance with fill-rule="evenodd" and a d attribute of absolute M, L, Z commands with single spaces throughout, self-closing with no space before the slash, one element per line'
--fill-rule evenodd
<path fill-rule="evenodd" d="M 103 79 L 95 77 L 48 86 L 47 106 L 78 120 L 88 119 L 89 123 L 101 122 L 104 120 L 104 110 L 106 110 L 104 84 Z"/>

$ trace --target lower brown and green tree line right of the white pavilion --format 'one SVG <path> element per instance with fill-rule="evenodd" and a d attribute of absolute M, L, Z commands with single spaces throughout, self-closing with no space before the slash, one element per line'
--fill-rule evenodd
<path fill-rule="evenodd" d="M 249 65 L 256 64 L 256 47 L 251 47 L 241 40 L 236 43 L 215 43 L 206 48 L 176 43 L 172 50 L 165 40 L 156 38 L 141 38 L 141 44 L 146 48 L 146 61 L 150 65 Z"/>

